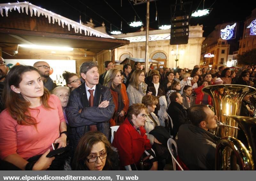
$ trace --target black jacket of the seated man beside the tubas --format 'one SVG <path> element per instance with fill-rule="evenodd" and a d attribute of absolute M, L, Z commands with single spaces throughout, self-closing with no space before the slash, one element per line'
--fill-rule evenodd
<path fill-rule="evenodd" d="M 177 140 L 180 160 L 189 170 L 214 170 L 215 147 L 219 139 L 193 124 L 181 125 Z"/>

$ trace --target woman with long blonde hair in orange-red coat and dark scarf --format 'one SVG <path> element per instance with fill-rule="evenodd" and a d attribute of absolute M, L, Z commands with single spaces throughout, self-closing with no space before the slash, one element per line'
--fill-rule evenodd
<path fill-rule="evenodd" d="M 110 119 L 110 126 L 123 123 L 124 115 L 126 115 L 129 107 L 129 99 L 126 93 L 126 87 L 122 84 L 120 71 L 115 68 L 108 70 L 104 79 L 104 86 L 110 88 L 115 104 L 115 112 Z"/>

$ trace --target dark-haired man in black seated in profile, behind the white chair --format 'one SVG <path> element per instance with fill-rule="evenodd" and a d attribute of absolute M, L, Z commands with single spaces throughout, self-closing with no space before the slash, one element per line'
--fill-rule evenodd
<path fill-rule="evenodd" d="M 170 95 L 171 104 L 167 109 L 167 113 L 172 118 L 173 128 L 172 135 L 175 138 L 181 124 L 187 123 L 187 112 L 183 109 L 183 97 L 178 92 Z"/>

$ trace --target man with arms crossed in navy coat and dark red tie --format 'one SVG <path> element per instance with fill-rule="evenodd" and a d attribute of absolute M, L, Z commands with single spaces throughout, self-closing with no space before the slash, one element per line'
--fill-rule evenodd
<path fill-rule="evenodd" d="M 80 75 L 85 82 L 71 92 L 66 108 L 69 143 L 73 149 L 88 131 L 100 131 L 110 140 L 109 120 L 115 109 L 109 88 L 99 84 L 97 64 L 84 62 Z"/>

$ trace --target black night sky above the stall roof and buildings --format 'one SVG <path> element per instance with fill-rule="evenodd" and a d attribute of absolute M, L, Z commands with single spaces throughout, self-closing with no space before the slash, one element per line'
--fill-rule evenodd
<path fill-rule="evenodd" d="M 184 0 L 183 2 L 187 1 L 188 0 Z M 17 0 L 0 0 L 0 2 L 14 3 L 17 2 Z M 85 20 L 89 21 L 89 19 L 92 18 L 93 23 L 96 26 L 101 26 L 102 21 L 104 21 L 105 26 L 107 27 L 107 32 L 110 31 L 110 24 L 112 24 L 112 30 L 120 30 L 121 21 L 123 21 L 123 33 L 140 31 L 140 27 L 131 28 L 127 24 L 134 21 L 134 16 L 136 16 L 136 21 L 142 20 L 144 26 L 146 26 L 146 3 L 133 5 L 133 2 L 130 0 L 30 0 L 29 2 L 77 22 L 79 22 L 80 15 L 83 22 Z M 175 4 L 175 2 L 176 0 L 157 0 L 156 2 L 150 2 L 149 27 L 158 29 L 158 25 L 170 24 L 170 19 L 172 17 L 170 11 L 171 4 Z M 189 24 L 203 25 L 204 37 L 210 34 L 217 24 L 243 22 L 245 18 L 251 14 L 251 11 L 256 8 L 256 1 L 249 0 L 193 0 L 191 11 L 196 10 L 197 7 L 198 10 L 203 9 L 203 2 L 205 9 L 210 7 L 213 8 L 212 12 L 205 17 L 190 19 Z M 139 17 L 136 15 L 132 6 Z M 155 20 L 156 9 L 158 12 L 157 20 Z M 187 6 L 185 7 L 185 11 L 189 12 Z"/>

